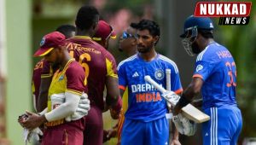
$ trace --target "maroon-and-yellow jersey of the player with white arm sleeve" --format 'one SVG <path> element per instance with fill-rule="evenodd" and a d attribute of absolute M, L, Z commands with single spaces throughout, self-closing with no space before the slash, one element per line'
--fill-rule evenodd
<path fill-rule="evenodd" d="M 64 68 L 57 70 L 49 86 L 48 112 L 52 109 L 50 96 L 65 92 L 70 92 L 81 96 L 83 92 L 87 92 L 87 88 L 84 85 L 85 80 L 84 69 L 77 61 L 74 61 L 74 59 L 69 60 Z M 64 119 L 56 120 L 48 122 L 46 125 L 60 125 L 63 123 L 63 121 Z"/>

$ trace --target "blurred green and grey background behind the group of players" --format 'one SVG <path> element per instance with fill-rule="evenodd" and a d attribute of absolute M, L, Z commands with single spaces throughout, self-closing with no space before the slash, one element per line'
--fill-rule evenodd
<path fill-rule="evenodd" d="M 44 34 L 61 24 L 74 24 L 75 15 L 84 4 L 94 5 L 101 19 L 113 26 L 118 36 L 131 22 L 141 19 L 160 24 L 161 36 L 157 51 L 177 63 L 185 88 L 193 73 L 195 57 L 189 57 L 178 37 L 183 21 L 194 13 L 199 1 L 186 0 L 0 0 L 0 145 L 20 145 L 22 128 L 17 117 L 32 111 L 32 68 L 38 59 L 32 54 L 38 49 Z M 252 1 L 250 1 L 252 2 Z M 255 4 L 255 0 L 253 0 Z M 237 102 L 241 108 L 243 128 L 239 144 L 256 142 L 256 6 L 252 6 L 247 26 L 218 26 L 215 40 L 230 49 L 236 59 Z M 119 37 L 118 37 L 119 38 Z M 126 55 L 118 50 L 118 40 L 110 40 L 109 51 L 117 62 Z M 104 113 L 104 128 L 116 120 Z M 182 144 L 201 144 L 201 125 L 195 136 L 181 136 Z M 114 145 L 116 139 L 105 144 Z"/>

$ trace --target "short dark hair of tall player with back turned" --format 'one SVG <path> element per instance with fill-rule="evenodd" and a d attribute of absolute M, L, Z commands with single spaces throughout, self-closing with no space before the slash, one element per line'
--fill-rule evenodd
<path fill-rule="evenodd" d="M 79 9 L 75 24 L 80 30 L 89 30 L 97 22 L 98 10 L 93 6 L 83 6 Z"/>

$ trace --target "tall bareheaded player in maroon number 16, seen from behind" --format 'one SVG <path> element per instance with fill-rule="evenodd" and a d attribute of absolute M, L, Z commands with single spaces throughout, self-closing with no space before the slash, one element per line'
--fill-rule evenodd
<path fill-rule="evenodd" d="M 75 24 L 77 33 L 67 39 L 69 54 L 84 67 L 90 99 L 90 112 L 86 116 L 84 144 L 101 145 L 103 139 L 102 110 L 104 109 L 103 91 L 106 86 L 106 103 L 113 118 L 118 118 L 121 109 L 116 63 L 108 50 L 90 37 L 94 36 L 99 21 L 97 9 L 84 6 L 79 9 Z"/>

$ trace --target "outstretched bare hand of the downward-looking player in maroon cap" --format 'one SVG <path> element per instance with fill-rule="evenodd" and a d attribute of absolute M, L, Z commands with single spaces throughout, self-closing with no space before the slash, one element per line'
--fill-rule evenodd
<path fill-rule="evenodd" d="M 20 124 L 29 131 L 37 128 L 39 125 L 42 125 L 44 122 L 47 121 L 44 115 L 39 116 L 37 113 L 30 113 L 28 111 L 26 111 L 26 114 L 28 116 L 27 119 L 20 120 Z"/>

